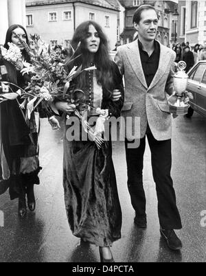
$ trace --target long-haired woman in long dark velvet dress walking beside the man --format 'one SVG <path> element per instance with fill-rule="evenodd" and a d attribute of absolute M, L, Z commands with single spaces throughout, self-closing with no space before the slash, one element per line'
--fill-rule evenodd
<path fill-rule="evenodd" d="M 80 47 L 78 45 L 80 44 Z M 82 69 L 95 65 L 96 71 L 85 71 L 73 80 L 71 87 L 84 92 L 88 117 L 98 120 L 97 108 L 108 109 L 110 116 L 119 117 L 123 105 L 122 76 L 115 62 L 110 60 L 106 36 L 93 22 L 82 23 L 71 42 L 81 55 L 73 65 Z M 112 91 L 119 89 L 122 99 L 111 100 Z M 80 100 L 80 98 L 79 98 Z M 56 108 L 73 116 L 76 106 L 57 102 Z M 78 109 L 78 106 L 77 106 Z M 98 149 L 93 141 L 69 141 L 69 122 L 64 139 L 63 185 L 65 206 L 73 235 L 100 246 L 101 262 L 113 262 L 110 246 L 121 238 L 122 211 L 112 161 L 111 141 L 104 141 Z M 83 134 L 84 130 L 80 130 Z M 100 135 L 102 135 L 100 131 Z"/>

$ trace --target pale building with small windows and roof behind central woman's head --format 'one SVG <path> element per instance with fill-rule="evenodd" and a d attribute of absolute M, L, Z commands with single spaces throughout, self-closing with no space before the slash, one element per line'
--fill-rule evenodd
<path fill-rule="evenodd" d="M 40 34 L 43 41 L 69 47 L 76 27 L 83 21 L 100 23 L 110 47 L 117 42 L 119 10 L 104 0 L 26 0 L 26 27 L 28 34 Z"/>

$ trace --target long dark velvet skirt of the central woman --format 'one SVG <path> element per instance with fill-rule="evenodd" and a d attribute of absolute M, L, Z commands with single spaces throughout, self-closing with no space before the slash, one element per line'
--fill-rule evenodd
<path fill-rule="evenodd" d="M 93 141 L 64 139 L 65 207 L 73 235 L 96 246 L 121 238 L 122 211 L 111 142 L 98 150 Z"/>

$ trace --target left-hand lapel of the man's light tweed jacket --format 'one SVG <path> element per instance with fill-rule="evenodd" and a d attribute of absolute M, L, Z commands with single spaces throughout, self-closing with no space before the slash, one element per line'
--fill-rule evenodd
<path fill-rule="evenodd" d="M 144 76 L 144 71 L 141 66 L 141 59 L 139 55 L 139 46 L 137 41 L 134 41 L 133 43 L 130 43 L 128 45 L 128 51 L 126 51 L 126 54 L 128 56 L 128 60 L 130 61 L 130 65 L 133 67 L 133 70 L 135 71 L 137 78 L 141 82 L 141 84 L 148 89 L 146 79 Z"/>

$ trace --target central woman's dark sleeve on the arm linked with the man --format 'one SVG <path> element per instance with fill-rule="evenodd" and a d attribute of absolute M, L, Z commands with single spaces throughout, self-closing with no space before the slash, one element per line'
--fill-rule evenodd
<path fill-rule="evenodd" d="M 110 96 L 103 97 L 102 108 L 108 109 L 109 117 L 114 116 L 114 117 L 118 118 L 118 117 L 120 117 L 121 109 L 124 104 L 124 85 L 123 85 L 123 81 L 122 81 L 122 75 L 119 72 L 119 68 L 117 67 L 115 62 L 113 62 L 113 64 L 112 64 L 112 71 L 113 71 L 113 87 L 110 91 L 111 92 Z M 122 97 L 117 102 L 113 102 L 113 100 L 111 99 L 112 92 L 114 89 L 119 89 L 119 91 L 122 94 Z"/>

